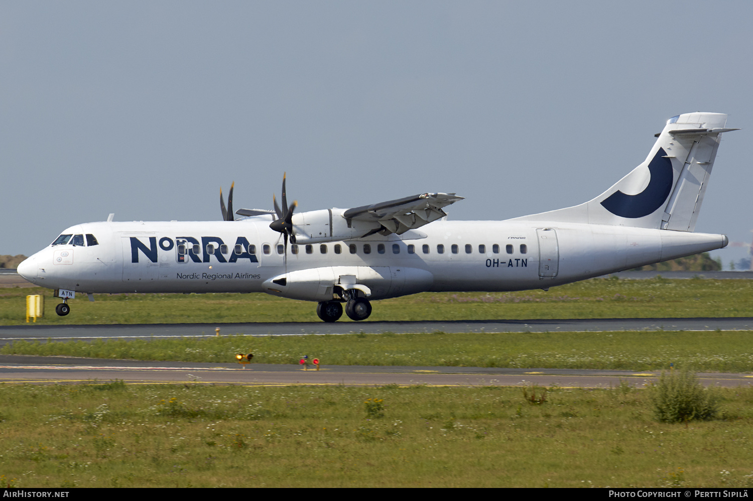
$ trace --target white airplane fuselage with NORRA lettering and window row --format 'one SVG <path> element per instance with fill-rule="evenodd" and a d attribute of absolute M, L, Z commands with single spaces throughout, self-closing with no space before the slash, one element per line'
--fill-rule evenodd
<path fill-rule="evenodd" d="M 399 236 L 299 245 L 297 253 L 288 244 L 285 255 L 269 224 L 260 216 L 75 225 L 64 234 L 93 235 L 96 245 L 47 246 L 19 273 L 40 286 L 84 293 L 267 292 L 331 301 L 333 286 L 358 283 L 370 299 L 383 299 L 547 289 L 727 244 L 718 234 L 610 225 L 434 221 Z"/>

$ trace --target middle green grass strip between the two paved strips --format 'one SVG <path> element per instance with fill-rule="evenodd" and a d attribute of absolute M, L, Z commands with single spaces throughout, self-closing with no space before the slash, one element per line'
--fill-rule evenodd
<path fill-rule="evenodd" d="M 625 331 L 502 334 L 222 336 L 153 340 L 14 341 L 0 353 L 105 359 L 295 364 L 302 355 L 322 365 L 660 370 L 670 363 L 699 371 L 753 371 L 753 331 Z"/>

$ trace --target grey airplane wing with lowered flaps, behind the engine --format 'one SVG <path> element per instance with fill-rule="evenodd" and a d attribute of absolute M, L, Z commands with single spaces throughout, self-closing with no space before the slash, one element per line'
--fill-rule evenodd
<path fill-rule="evenodd" d="M 370 231 L 370 234 L 381 232 L 384 235 L 401 235 L 408 230 L 444 218 L 447 214 L 442 208 L 458 200 L 463 200 L 463 197 L 458 197 L 454 193 L 425 193 L 353 207 L 343 212 L 343 217 L 348 221 L 379 222 L 381 227 Z"/>

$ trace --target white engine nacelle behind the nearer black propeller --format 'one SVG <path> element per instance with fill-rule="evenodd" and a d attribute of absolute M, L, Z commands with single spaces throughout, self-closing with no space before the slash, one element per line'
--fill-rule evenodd
<path fill-rule="evenodd" d="M 322 209 L 293 215 L 293 234 L 296 243 L 326 243 L 360 238 L 379 230 L 378 221 L 349 221 L 343 217 L 346 209 Z"/>

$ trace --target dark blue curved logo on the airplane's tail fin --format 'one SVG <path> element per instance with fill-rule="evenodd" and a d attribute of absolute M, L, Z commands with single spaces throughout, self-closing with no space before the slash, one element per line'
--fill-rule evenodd
<path fill-rule="evenodd" d="M 672 191 L 672 160 L 666 157 L 663 148 L 659 148 L 648 164 L 648 172 L 651 179 L 648 186 L 639 194 L 626 195 L 617 190 L 602 201 L 602 206 L 623 218 L 642 218 L 654 212 L 662 206 Z"/>

